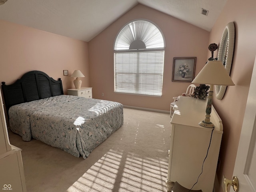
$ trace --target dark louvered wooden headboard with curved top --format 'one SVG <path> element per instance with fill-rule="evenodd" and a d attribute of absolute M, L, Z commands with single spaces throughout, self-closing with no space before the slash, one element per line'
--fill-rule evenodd
<path fill-rule="evenodd" d="M 2 92 L 8 112 L 16 104 L 63 95 L 63 88 L 60 78 L 56 81 L 42 71 L 30 71 L 13 84 L 2 82 Z"/>

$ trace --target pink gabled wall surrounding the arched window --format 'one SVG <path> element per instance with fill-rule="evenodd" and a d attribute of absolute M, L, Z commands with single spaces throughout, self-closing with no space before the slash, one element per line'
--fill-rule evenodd
<path fill-rule="evenodd" d="M 140 18 L 154 22 L 165 36 L 164 81 L 161 98 L 114 93 L 114 40 L 125 24 Z M 128 106 L 170 110 L 172 97 L 185 92 L 190 84 L 172 82 L 173 58 L 196 57 L 196 74 L 198 74 L 207 60 L 207 53 L 210 53 L 209 34 L 196 26 L 138 4 L 88 43 L 90 86 L 93 88 L 93 97 L 115 100 Z"/>

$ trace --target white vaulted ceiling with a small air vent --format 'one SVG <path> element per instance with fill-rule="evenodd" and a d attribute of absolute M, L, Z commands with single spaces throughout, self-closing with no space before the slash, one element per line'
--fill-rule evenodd
<path fill-rule="evenodd" d="M 0 19 L 89 42 L 138 3 L 210 31 L 226 0 L 7 0 Z"/>

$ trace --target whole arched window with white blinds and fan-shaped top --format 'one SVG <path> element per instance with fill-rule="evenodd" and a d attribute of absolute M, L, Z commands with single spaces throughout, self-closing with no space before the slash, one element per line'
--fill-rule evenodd
<path fill-rule="evenodd" d="M 114 91 L 161 96 L 164 47 L 164 36 L 152 22 L 124 26 L 114 43 Z"/>

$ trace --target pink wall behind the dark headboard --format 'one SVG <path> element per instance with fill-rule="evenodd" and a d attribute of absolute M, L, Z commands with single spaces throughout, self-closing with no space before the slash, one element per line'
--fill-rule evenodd
<path fill-rule="evenodd" d="M 80 69 L 89 86 L 88 43 L 0 20 L 0 82 L 13 83 L 25 72 L 40 70 L 62 79 L 64 93 L 75 88 L 70 75 Z M 69 76 L 63 76 L 68 70 Z"/>

